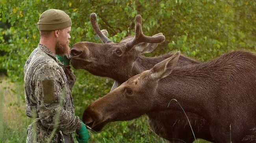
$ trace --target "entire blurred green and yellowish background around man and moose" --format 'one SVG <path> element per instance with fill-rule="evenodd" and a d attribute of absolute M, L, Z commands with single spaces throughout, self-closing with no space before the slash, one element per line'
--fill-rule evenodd
<path fill-rule="evenodd" d="M 0 143 L 25 142 L 32 119 L 25 116 L 23 67 L 39 43 L 37 22 L 47 9 L 61 9 L 72 20 L 70 44 L 101 43 L 89 14 L 96 13 L 100 29 L 118 43 L 134 35 L 134 18 L 142 16 L 143 33 L 165 35 L 165 42 L 145 56 L 171 51 L 206 62 L 235 49 L 256 52 L 254 0 L 0 0 Z M 72 95 L 76 115 L 110 91 L 113 80 L 74 70 Z M 188 131 L 189 132 L 189 131 Z M 109 123 L 92 133 L 90 142 L 165 143 L 148 127 L 147 116 Z"/>

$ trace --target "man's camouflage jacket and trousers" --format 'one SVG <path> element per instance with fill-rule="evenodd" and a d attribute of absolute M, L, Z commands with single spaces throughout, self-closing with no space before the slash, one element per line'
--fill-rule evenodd
<path fill-rule="evenodd" d="M 82 123 L 79 117 L 74 115 L 70 92 L 75 81 L 74 74 L 68 68 L 65 71 L 66 73 L 56 55 L 41 44 L 26 61 L 26 116 L 36 118 L 28 126 L 27 142 L 47 142 L 53 129 L 56 129 L 56 132 L 53 133 L 51 143 L 59 142 L 63 137 L 61 134 L 69 136 L 70 142 L 74 142 L 72 133 L 76 128 L 80 128 Z M 66 74 L 72 81 L 68 81 Z"/>

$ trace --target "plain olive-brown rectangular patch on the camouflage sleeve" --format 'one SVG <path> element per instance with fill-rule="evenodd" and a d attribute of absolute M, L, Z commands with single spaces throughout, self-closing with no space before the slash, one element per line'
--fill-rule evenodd
<path fill-rule="evenodd" d="M 43 96 L 45 103 L 53 103 L 56 101 L 56 97 L 54 94 L 54 80 L 43 80 Z"/>

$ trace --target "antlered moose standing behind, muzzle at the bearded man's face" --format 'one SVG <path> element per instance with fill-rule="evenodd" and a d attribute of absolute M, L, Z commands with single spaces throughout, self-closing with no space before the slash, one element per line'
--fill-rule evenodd
<path fill-rule="evenodd" d="M 165 38 L 162 33 L 152 37 L 145 36 L 141 30 L 140 15 L 135 18 L 135 36 L 126 37 L 120 43 L 113 43 L 106 37 L 107 31 L 100 31 L 95 13 L 91 14 L 90 19 L 93 28 L 104 44 L 91 42 L 74 44 L 71 48 L 70 58 L 72 65 L 76 69 L 82 68 L 98 76 L 113 78 L 115 83 L 123 83 L 132 76 L 152 68 L 156 63 L 173 55 L 171 53 L 154 58 L 141 56 L 143 53 L 153 51 L 158 43 L 163 42 Z M 136 42 L 136 39 L 140 40 L 139 43 Z M 126 44 L 128 42 L 134 44 Z M 181 55 L 177 65 L 184 66 L 197 63 L 199 62 Z M 194 138 L 191 129 L 186 125 L 187 119 L 184 113 L 180 111 L 155 112 L 149 116 L 150 126 L 156 134 L 170 141 L 183 140 L 188 143 L 192 142 Z M 193 121 L 195 136 L 212 141 L 207 122 L 197 114 L 187 114 Z"/>

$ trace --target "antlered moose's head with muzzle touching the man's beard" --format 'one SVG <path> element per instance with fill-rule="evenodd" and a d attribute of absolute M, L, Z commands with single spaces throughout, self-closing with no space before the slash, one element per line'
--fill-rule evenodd
<path fill-rule="evenodd" d="M 97 76 L 118 78 L 122 82 L 128 80 L 123 77 L 123 73 L 131 74 L 127 69 L 134 67 L 137 58 L 141 54 L 153 51 L 158 43 L 165 41 L 165 36 L 162 33 L 154 36 L 143 34 L 140 15 L 135 16 L 135 36 L 128 36 L 119 43 L 109 40 L 105 35 L 106 31 L 100 31 L 95 13 L 90 15 L 90 20 L 93 29 L 103 43 L 75 43 L 71 47 L 69 58 L 75 69 L 85 69 Z"/>

